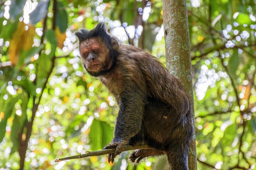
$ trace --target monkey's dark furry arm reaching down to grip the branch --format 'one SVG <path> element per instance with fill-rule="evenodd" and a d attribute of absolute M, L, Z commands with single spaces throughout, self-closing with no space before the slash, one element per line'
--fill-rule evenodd
<path fill-rule="evenodd" d="M 108 154 L 108 162 L 114 161 L 120 153 L 119 147 L 125 146 L 129 140 L 140 132 L 146 95 L 141 86 L 129 82 L 120 96 L 119 113 L 116 119 L 114 138 L 104 149 L 115 148 L 115 154 Z"/>

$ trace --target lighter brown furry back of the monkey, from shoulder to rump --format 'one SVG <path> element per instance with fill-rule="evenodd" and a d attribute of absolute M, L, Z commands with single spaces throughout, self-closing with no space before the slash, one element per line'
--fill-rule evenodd
<path fill-rule="evenodd" d="M 133 66 L 129 70 L 134 79 L 144 81 L 148 97 L 156 98 L 176 112 L 187 112 L 189 96 L 180 81 L 172 76 L 160 61 L 154 56 L 134 46 L 121 45 L 123 52 L 118 58 L 121 66 Z M 142 75 L 140 74 L 142 73 Z M 125 79 L 125 78 L 124 78 Z M 140 83 L 141 85 L 141 83 Z M 179 103 L 180 105 L 177 105 Z"/>

